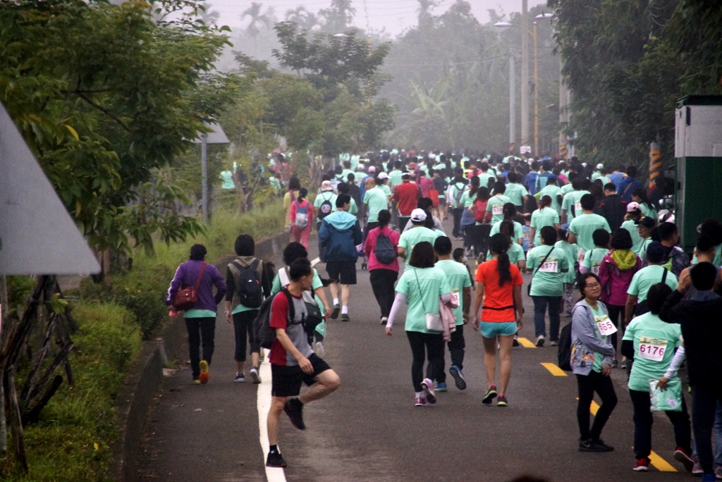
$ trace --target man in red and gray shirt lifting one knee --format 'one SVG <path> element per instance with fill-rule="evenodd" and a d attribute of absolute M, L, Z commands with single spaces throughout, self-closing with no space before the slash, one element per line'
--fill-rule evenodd
<path fill-rule="evenodd" d="M 310 261 L 305 258 L 295 260 L 291 263 L 289 276 L 288 288 L 278 294 L 271 304 L 269 325 L 276 330 L 276 340 L 269 354 L 272 380 L 271 408 L 267 419 L 269 455 L 266 458 L 266 466 L 268 467 L 286 466 L 286 461 L 278 449 L 281 412 L 286 412 L 293 426 L 305 430 L 303 406 L 329 395 L 341 385 L 339 375 L 313 353 L 303 325 L 306 305 L 302 295 L 310 289 L 313 282 Z M 292 319 L 290 313 L 294 315 Z M 308 386 L 308 390 L 298 396 L 302 383 Z"/>

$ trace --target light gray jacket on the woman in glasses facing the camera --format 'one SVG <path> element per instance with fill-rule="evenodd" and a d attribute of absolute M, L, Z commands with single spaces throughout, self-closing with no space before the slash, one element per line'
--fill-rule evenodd
<path fill-rule="evenodd" d="M 604 303 L 598 301 L 604 313 L 608 313 Z M 574 305 L 572 310 L 572 372 L 578 375 L 588 375 L 591 372 L 594 353 L 604 355 L 602 364 L 612 364 L 612 356 L 617 351 L 612 346 L 611 337 L 604 336 L 603 340 L 596 337 L 594 331 L 594 315 L 591 307 L 582 299 Z"/>

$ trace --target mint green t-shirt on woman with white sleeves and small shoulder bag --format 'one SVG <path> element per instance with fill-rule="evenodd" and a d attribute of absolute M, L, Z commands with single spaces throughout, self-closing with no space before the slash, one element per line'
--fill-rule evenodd
<path fill-rule="evenodd" d="M 417 228 L 414 228 L 417 229 Z M 412 229 L 412 231 L 414 230 Z M 467 273 L 468 278 L 468 273 Z M 406 295 L 406 331 L 435 333 L 426 329 L 426 313 L 439 312 L 439 297 L 451 293 L 451 286 L 440 268 L 406 266 L 396 284 L 396 292 Z"/>

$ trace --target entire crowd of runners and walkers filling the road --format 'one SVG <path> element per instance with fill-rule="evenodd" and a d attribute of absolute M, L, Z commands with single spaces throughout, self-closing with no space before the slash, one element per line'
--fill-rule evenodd
<path fill-rule="evenodd" d="M 408 338 L 415 406 L 435 404 L 448 390 L 447 348 L 448 374 L 458 390 L 466 389 L 469 325 L 484 342 L 487 390 L 479 402 L 513 403 L 511 357 L 526 321 L 533 323 L 536 346 L 557 346 L 560 367 L 575 374 L 578 450 L 613 450 L 601 432 L 618 402 L 610 374 L 625 369 L 634 410 L 633 469 L 648 469 L 652 413 L 664 411 L 674 425 L 674 458 L 712 481 L 722 478 L 722 224 L 708 219 L 698 227 L 690 259 L 677 247 L 675 224 L 658 219 L 666 194 L 645 187 L 634 166 L 575 158 L 394 151 L 348 159 L 323 175 L 313 202 L 308 188 L 290 178 L 286 266 L 276 270 L 256 258 L 253 239 L 240 235 L 238 257 L 222 276 L 196 245 L 175 273 L 166 303 L 175 305 L 179 293 L 195 289 L 196 302 L 184 311 L 194 382 L 208 380 L 215 310 L 223 299 L 235 327 L 236 382 L 248 374 L 261 383 L 261 345 L 270 347 L 271 467 L 286 465 L 277 446 L 281 413 L 305 429 L 303 406 L 340 385 L 322 358 L 326 322 L 360 321 L 351 307 L 361 258 L 378 302 L 376 322 L 388 336 L 403 326 Z M 448 233 L 445 219 L 453 220 Z M 308 259 L 313 227 L 324 276 Z M 463 247 L 454 250 L 453 240 L 463 240 Z M 531 273 L 526 290 L 522 273 Z M 533 300 L 533 314 L 525 315 L 523 297 Z M 272 339 L 259 335 L 264 323 Z M 683 363 L 692 422 L 678 375 Z M 300 394 L 303 383 L 308 390 Z M 602 403 L 590 426 L 594 393 Z"/>

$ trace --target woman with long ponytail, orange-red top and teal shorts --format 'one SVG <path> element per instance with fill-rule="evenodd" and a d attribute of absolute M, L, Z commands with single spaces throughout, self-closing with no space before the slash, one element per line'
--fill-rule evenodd
<path fill-rule="evenodd" d="M 521 272 L 509 262 L 507 251 L 511 242 L 501 233 L 489 241 L 492 260 L 477 269 L 477 293 L 474 297 L 474 330 L 481 330 L 484 341 L 484 366 L 489 388 L 482 399 L 490 405 L 498 395 L 497 406 L 507 406 L 506 390 L 511 376 L 511 346 L 514 334 L 523 327 L 524 308 L 521 301 Z M 482 302 L 484 306 L 482 307 Z M 482 308 L 479 317 L 479 308 Z M 495 384 L 496 352 L 499 345 L 500 388 Z"/>

